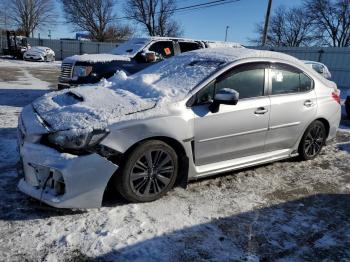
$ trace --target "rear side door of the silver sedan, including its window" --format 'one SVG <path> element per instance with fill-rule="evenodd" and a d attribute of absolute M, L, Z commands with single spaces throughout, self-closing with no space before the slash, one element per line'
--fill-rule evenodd
<path fill-rule="evenodd" d="M 300 69 L 272 64 L 269 69 L 271 112 L 266 151 L 295 145 L 317 111 L 313 80 Z"/>

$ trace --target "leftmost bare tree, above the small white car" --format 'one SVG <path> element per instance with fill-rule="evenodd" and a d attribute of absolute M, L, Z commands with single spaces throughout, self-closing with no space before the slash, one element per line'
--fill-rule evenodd
<path fill-rule="evenodd" d="M 6 10 L 10 23 L 27 37 L 54 19 L 53 0 L 7 0 Z"/>

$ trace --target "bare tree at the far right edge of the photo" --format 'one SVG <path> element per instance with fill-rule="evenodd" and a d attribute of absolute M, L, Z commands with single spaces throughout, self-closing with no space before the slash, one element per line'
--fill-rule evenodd
<path fill-rule="evenodd" d="M 315 32 L 329 46 L 350 46 L 350 1 L 305 0 Z"/>

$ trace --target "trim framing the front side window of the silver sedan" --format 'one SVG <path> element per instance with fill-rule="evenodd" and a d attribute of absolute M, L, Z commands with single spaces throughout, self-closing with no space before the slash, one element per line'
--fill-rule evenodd
<path fill-rule="evenodd" d="M 203 106 L 203 105 L 208 105 L 210 104 L 210 102 L 203 102 L 200 104 L 197 104 L 197 95 L 198 93 L 200 93 L 204 88 L 207 88 L 209 85 L 211 85 L 213 82 L 215 84 L 215 89 L 216 90 L 216 84 L 219 81 L 219 79 L 223 78 L 223 77 L 228 77 L 230 75 L 233 74 L 233 71 L 237 70 L 237 68 L 239 69 L 240 67 L 254 67 L 256 65 L 265 65 L 264 68 L 261 68 L 264 70 L 264 87 L 263 87 L 263 94 L 261 96 L 254 96 L 254 97 L 247 97 L 247 98 L 240 98 L 239 101 L 247 101 L 247 100 L 251 100 L 251 99 L 257 99 L 257 98 L 261 98 L 261 97 L 266 97 L 269 95 L 268 91 L 269 91 L 269 68 L 270 68 L 270 62 L 268 61 L 259 61 L 259 62 L 246 62 L 246 63 L 242 63 L 242 64 L 238 64 L 235 65 L 229 69 L 227 69 L 225 72 L 223 72 L 222 74 L 220 74 L 219 76 L 217 76 L 215 79 L 213 79 L 212 81 L 210 81 L 208 84 L 206 84 L 203 88 L 201 88 L 200 90 L 198 90 L 192 97 L 190 97 L 190 99 L 187 101 L 186 105 L 188 105 L 188 107 L 193 107 L 193 106 Z"/>

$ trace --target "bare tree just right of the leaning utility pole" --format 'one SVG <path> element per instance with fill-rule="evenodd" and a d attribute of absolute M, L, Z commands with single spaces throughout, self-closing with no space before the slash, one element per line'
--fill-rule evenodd
<path fill-rule="evenodd" d="M 254 44 L 260 44 L 263 36 L 263 26 L 258 24 Z M 309 46 L 316 40 L 312 32 L 312 21 L 301 8 L 286 9 L 278 7 L 270 20 L 267 32 L 268 46 Z"/>

